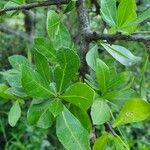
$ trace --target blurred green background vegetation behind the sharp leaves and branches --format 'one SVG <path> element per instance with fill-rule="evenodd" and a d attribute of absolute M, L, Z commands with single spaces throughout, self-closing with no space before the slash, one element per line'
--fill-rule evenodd
<path fill-rule="evenodd" d="M 27 2 L 33 1 L 27 0 Z M 13 5 L 13 1 L 0 1 L 0 9 L 10 5 Z M 5 71 L 10 68 L 8 57 L 11 55 L 21 54 L 31 59 L 31 52 L 34 50 L 32 39 L 36 36 L 47 36 L 47 11 L 49 9 L 55 9 L 57 12 L 62 12 L 64 7 L 51 6 L 48 8 L 38 8 L 31 10 L 30 14 L 26 11 L 15 11 L 0 16 L 0 71 Z M 143 12 L 148 7 L 150 7 L 150 0 L 137 1 L 138 13 Z M 91 28 L 94 31 L 101 32 L 104 26 L 100 15 L 96 13 L 92 0 L 87 0 L 87 9 Z M 65 15 L 64 22 L 72 35 L 72 39 L 78 44 L 79 33 L 76 18 L 76 11 L 72 10 Z M 150 20 L 142 23 L 136 32 L 138 31 L 143 35 L 150 35 Z M 147 55 L 150 54 L 150 49 L 148 50 L 144 44 L 138 42 L 116 41 L 116 43 L 129 48 L 136 56 L 143 58 L 140 64 L 130 69 L 128 68 L 128 70 L 131 70 L 134 76 L 132 88 L 137 94 L 150 100 L 150 61 L 144 72 L 145 81 L 142 82 L 142 67 Z M 101 47 L 99 47 L 99 51 L 102 59 L 110 59 Z M 118 70 L 126 69 L 120 64 L 116 64 L 116 66 Z M 0 83 L 6 83 L 1 75 Z M 140 86 L 141 84 L 142 86 Z M 61 144 L 56 140 L 54 126 L 48 130 L 28 126 L 26 110 L 29 104 L 30 101 L 23 106 L 22 110 L 24 111 L 22 111 L 21 120 L 17 126 L 12 128 L 7 121 L 7 114 L 12 102 L 0 98 L 0 150 L 63 150 Z M 150 150 L 150 121 L 125 126 L 121 130 L 133 150 Z"/>

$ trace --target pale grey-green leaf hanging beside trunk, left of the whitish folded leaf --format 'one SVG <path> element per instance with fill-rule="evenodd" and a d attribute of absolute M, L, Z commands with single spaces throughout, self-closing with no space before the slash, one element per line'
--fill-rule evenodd
<path fill-rule="evenodd" d="M 99 58 L 98 47 L 93 46 L 86 54 L 87 64 L 95 71 L 96 70 L 96 60 Z"/>

